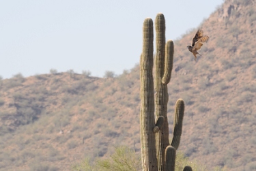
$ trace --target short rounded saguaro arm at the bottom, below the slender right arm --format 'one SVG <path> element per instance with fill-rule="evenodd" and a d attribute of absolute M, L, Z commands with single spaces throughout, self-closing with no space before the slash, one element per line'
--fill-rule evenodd
<path fill-rule="evenodd" d="M 165 149 L 165 170 L 175 170 L 175 157 L 176 149 L 173 146 L 167 146 L 167 148 Z"/>

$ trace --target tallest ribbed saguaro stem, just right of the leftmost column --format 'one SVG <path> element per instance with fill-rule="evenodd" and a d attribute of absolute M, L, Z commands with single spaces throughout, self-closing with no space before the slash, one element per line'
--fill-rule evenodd
<path fill-rule="evenodd" d="M 167 103 L 169 99 L 167 84 L 162 84 L 165 74 L 165 16 L 157 14 L 156 27 L 156 59 L 155 59 L 155 108 L 156 116 L 163 116 L 164 125 L 156 133 L 156 155 L 158 159 L 158 170 L 163 170 L 165 148 L 169 146 L 169 125 L 167 120 Z M 170 52 L 170 50 L 168 51 Z M 171 54 L 167 55 L 171 56 Z"/>

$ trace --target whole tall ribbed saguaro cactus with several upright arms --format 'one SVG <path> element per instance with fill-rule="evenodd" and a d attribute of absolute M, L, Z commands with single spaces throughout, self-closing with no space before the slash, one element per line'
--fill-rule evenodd
<path fill-rule="evenodd" d="M 145 171 L 173 170 L 175 151 L 180 144 L 184 102 L 178 99 L 175 105 L 173 140 L 169 143 L 167 84 L 173 68 L 173 41 L 165 43 L 165 16 L 156 16 L 155 80 L 153 80 L 153 21 L 146 18 L 143 24 L 143 52 L 141 71 L 141 159 Z M 155 88 L 155 89 L 154 89 Z M 154 93 L 155 91 L 155 93 Z M 156 114 L 156 121 L 155 115 Z"/>

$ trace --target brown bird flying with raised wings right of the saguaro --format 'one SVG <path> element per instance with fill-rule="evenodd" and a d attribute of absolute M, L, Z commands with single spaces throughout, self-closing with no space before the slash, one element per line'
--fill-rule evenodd
<path fill-rule="evenodd" d="M 192 46 L 186 46 L 188 50 L 193 53 L 195 57 L 195 61 L 197 59 L 197 54 L 200 55 L 199 52 L 197 52 L 197 50 L 200 50 L 201 47 L 203 46 L 203 43 L 207 42 L 208 39 L 209 39 L 209 36 L 203 35 L 203 30 L 199 29 L 197 33 L 195 33 L 195 36 L 193 37 Z"/>

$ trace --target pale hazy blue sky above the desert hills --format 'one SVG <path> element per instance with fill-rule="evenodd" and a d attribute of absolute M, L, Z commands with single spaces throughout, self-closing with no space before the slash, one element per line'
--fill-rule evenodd
<path fill-rule="evenodd" d="M 198 27 L 223 0 L 0 1 L 0 76 L 74 69 L 103 76 L 139 63 L 142 25 L 162 12 L 166 39 Z M 186 50 L 186 45 L 184 46 Z"/>

